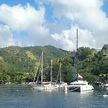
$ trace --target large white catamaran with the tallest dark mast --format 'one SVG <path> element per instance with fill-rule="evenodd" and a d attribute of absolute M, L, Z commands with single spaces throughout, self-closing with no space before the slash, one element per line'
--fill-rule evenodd
<path fill-rule="evenodd" d="M 93 90 L 93 86 L 90 85 L 87 81 L 84 81 L 83 78 L 79 79 L 78 74 L 78 29 L 76 31 L 77 39 L 76 39 L 76 53 L 75 53 L 75 74 L 76 74 L 76 81 L 71 82 L 67 86 L 67 90 L 72 92 L 83 92 L 83 91 L 91 91 Z"/>

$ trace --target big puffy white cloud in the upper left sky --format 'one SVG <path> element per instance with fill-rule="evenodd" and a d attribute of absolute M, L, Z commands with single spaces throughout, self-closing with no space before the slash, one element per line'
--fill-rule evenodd
<path fill-rule="evenodd" d="M 44 9 L 35 10 L 32 6 L 15 5 L 13 7 L 6 4 L 0 6 L 0 21 L 7 23 L 13 30 L 24 31 L 44 22 Z"/>

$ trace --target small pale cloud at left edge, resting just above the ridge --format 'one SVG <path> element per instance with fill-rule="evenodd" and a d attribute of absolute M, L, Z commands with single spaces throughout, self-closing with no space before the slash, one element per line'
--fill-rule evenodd
<path fill-rule="evenodd" d="M 0 47 L 15 45 L 12 32 L 7 25 L 0 25 Z"/>

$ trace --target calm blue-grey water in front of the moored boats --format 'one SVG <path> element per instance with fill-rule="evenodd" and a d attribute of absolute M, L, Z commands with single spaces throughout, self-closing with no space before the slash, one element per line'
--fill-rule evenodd
<path fill-rule="evenodd" d="M 0 86 L 0 108 L 108 108 L 100 91 L 65 94 L 39 92 L 30 86 Z"/>

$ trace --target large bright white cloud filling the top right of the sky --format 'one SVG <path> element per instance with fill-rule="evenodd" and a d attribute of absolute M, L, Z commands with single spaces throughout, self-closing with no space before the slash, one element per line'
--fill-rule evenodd
<path fill-rule="evenodd" d="M 101 8 L 103 0 L 47 0 L 47 2 L 54 7 L 56 18 L 65 17 L 84 27 L 99 30 L 107 26 L 108 19 Z"/>

